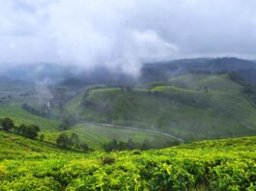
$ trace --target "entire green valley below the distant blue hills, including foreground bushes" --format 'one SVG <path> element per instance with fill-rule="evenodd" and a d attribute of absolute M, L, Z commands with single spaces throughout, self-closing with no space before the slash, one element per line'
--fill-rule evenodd
<path fill-rule="evenodd" d="M 162 76 L 3 78 L 0 190 L 253 190 L 254 84 L 232 72 Z"/>

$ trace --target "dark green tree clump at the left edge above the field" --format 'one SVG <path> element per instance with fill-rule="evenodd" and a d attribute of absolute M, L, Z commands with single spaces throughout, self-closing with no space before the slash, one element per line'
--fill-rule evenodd
<path fill-rule="evenodd" d="M 40 132 L 40 127 L 35 124 L 26 125 L 22 123 L 19 126 L 15 126 L 14 121 L 10 118 L 0 120 L 0 125 L 2 126 L 3 130 L 13 130 L 16 133 L 31 139 L 36 139 Z M 43 140 L 43 134 L 40 135 L 40 139 Z"/>

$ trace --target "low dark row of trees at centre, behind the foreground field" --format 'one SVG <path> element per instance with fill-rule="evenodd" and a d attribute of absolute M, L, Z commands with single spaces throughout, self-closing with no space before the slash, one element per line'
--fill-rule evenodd
<path fill-rule="evenodd" d="M 170 142 L 166 143 L 166 147 L 179 145 L 179 142 Z M 152 142 L 149 140 L 145 140 L 142 143 L 135 143 L 132 139 L 128 139 L 128 142 L 124 141 L 117 141 L 113 139 L 109 143 L 103 145 L 103 149 L 105 151 L 112 151 L 112 150 L 151 150 L 151 149 L 158 149 L 159 147 L 156 146 L 156 142 Z"/>

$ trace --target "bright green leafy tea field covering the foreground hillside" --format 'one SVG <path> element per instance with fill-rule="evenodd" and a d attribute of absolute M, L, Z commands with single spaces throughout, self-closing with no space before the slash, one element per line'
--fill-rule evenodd
<path fill-rule="evenodd" d="M 0 190 L 256 188 L 256 137 L 195 142 L 164 150 L 83 154 L 3 131 L 0 136 Z M 105 157 L 114 162 L 105 165 Z"/>

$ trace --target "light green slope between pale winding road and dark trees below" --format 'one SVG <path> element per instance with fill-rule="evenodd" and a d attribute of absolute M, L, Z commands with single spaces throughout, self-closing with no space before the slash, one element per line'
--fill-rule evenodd
<path fill-rule="evenodd" d="M 164 147 L 167 142 L 174 141 L 168 136 L 154 132 L 145 132 L 143 130 L 122 129 L 111 126 L 101 126 L 90 123 L 80 123 L 72 126 L 71 129 L 63 131 L 68 135 L 76 133 L 80 142 L 88 144 L 95 150 L 102 150 L 102 145 L 110 142 L 112 139 L 118 141 L 128 141 L 131 138 L 134 142 L 142 143 L 145 140 L 155 141 L 156 147 Z M 45 139 L 54 143 L 60 132 L 45 133 Z"/>

